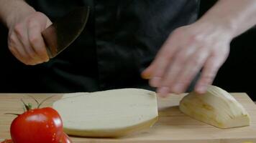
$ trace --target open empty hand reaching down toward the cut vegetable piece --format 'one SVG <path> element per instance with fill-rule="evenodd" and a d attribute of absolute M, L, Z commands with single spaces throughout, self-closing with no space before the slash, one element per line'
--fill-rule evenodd
<path fill-rule="evenodd" d="M 186 92 L 203 68 L 195 90 L 204 93 L 227 59 L 231 39 L 227 29 L 213 24 L 198 22 L 175 29 L 142 77 L 150 79 L 150 85 L 165 97 L 168 93 Z"/>

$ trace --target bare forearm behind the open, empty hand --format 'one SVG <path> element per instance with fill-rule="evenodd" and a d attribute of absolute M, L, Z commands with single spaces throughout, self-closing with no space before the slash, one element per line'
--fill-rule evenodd
<path fill-rule="evenodd" d="M 215 6 L 206 12 L 201 24 L 219 26 L 221 29 L 238 36 L 256 24 L 255 0 L 219 0 Z"/>

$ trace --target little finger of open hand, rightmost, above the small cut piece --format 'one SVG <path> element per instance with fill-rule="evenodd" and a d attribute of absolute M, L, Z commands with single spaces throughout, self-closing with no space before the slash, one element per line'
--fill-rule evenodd
<path fill-rule="evenodd" d="M 214 81 L 216 73 L 223 62 L 224 58 L 218 56 L 210 56 L 209 59 L 206 60 L 201 77 L 196 84 L 196 92 L 199 94 L 204 94 L 206 92 L 208 85 L 212 84 Z"/>

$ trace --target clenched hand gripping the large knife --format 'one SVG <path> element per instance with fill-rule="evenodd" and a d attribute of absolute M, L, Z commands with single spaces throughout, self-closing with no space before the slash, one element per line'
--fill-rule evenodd
<path fill-rule="evenodd" d="M 8 26 L 8 46 L 12 54 L 27 65 L 41 64 L 49 56 L 41 32 L 52 22 L 41 12 L 32 12 L 13 19 Z"/>

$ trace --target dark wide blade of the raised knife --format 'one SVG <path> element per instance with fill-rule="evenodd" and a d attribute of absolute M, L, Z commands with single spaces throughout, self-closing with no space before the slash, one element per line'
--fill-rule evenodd
<path fill-rule="evenodd" d="M 89 7 L 79 7 L 57 19 L 42 31 L 47 54 L 52 59 L 66 49 L 81 34 L 89 16 Z"/>

